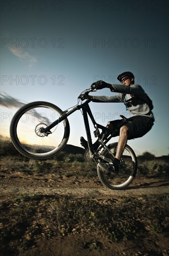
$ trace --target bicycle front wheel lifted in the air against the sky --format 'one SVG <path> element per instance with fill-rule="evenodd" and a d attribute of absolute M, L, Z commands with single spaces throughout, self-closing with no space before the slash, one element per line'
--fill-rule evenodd
<path fill-rule="evenodd" d="M 50 133 L 41 131 L 62 114 L 60 108 L 45 101 L 31 102 L 20 108 L 10 125 L 10 136 L 15 148 L 21 154 L 35 159 L 47 159 L 58 154 L 69 139 L 68 119 L 51 128 Z"/>

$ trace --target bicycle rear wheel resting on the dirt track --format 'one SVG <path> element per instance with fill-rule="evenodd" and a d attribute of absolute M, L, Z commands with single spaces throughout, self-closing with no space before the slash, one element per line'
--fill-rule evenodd
<path fill-rule="evenodd" d="M 118 142 L 115 142 L 108 146 L 114 156 L 117 152 L 117 145 Z M 102 155 L 112 159 L 113 162 L 114 157 L 108 152 L 107 149 L 103 150 Z M 102 160 L 102 162 L 105 162 L 105 160 Z M 120 159 L 118 174 L 113 174 L 113 172 L 105 174 L 99 167 L 97 167 L 97 173 L 102 184 L 108 189 L 125 189 L 133 181 L 137 168 L 137 157 L 132 148 L 126 145 Z"/>

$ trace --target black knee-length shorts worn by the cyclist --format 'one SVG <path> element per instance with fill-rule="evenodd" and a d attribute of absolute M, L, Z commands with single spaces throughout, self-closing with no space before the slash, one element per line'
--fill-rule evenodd
<path fill-rule="evenodd" d="M 123 120 L 110 121 L 113 125 L 115 136 L 119 135 L 119 130 L 122 126 L 126 126 L 128 131 L 128 140 L 140 138 L 150 131 L 154 124 L 154 119 L 149 116 L 133 116 L 127 119 L 128 122 Z"/>

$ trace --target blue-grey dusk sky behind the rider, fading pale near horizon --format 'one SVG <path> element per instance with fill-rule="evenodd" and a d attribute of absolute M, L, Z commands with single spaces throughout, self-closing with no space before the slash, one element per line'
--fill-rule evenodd
<path fill-rule="evenodd" d="M 118 74 L 131 71 L 153 100 L 156 121 L 147 135 L 128 144 L 137 155 L 168 155 L 168 5 L 163 0 L 1 1 L 1 94 L 23 103 L 50 101 L 65 110 L 94 81 L 118 83 Z M 113 95 L 109 89 L 93 94 Z M 1 108 L 2 135 L 8 135 L 17 110 L 9 101 L 7 107 Z M 128 116 L 121 103 L 90 107 L 105 126 Z M 68 143 L 80 146 L 80 136 L 86 137 L 81 112 L 69 116 L 69 123 Z"/>

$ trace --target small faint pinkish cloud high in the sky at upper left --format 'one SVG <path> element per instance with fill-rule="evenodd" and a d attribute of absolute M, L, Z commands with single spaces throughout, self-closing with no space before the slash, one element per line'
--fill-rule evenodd
<path fill-rule="evenodd" d="M 29 67 L 32 67 L 32 65 L 37 62 L 34 56 L 24 52 L 21 47 L 10 47 L 9 49 L 15 56 L 19 57 L 21 61 L 27 62 Z"/>

